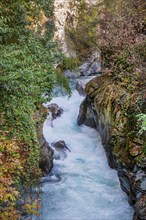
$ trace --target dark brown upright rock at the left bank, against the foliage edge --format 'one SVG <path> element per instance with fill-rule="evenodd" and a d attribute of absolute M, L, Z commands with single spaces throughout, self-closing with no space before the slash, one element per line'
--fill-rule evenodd
<path fill-rule="evenodd" d="M 40 161 L 39 166 L 42 170 L 43 176 L 47 175 L 53 167 L 53 153 L 54 151 L 49 144 L 44 140 L 40 149 Z"/>

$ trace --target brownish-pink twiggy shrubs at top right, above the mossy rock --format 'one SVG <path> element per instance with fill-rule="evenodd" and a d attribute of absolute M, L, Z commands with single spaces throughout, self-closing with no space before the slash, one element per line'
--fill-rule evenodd
<path fill-rule="evenodd" d="M 137 70 L 143 74 L 145 35 L 144 0 L 112 1 L 103 0 L 106 6 L 100 12 L 98 41 L 103 55 L 104 67 L 110 74 L 126 74 L 131 77 Z M 107 6 L 108 4 L 108 6 Z M 117 78 L 118 80 L 118 78 Z"/>

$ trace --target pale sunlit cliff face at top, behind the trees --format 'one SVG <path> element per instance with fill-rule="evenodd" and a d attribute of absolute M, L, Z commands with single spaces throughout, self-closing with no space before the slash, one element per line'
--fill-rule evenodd
<path fill-rule="evenodd" d="M 88 6 L 96 5 L 100 0 L 85 0 Z M 54 24 L 55 33 L 54 39 L 58 40 L 61 44 L 63 52 L 67 56 L 76 56 L 76 50 L 73 48 L 67 40 L 66 27 L 69 25 L 71 28 L 75 28 L 79 20 L 78 5 L 81 1 L 78 0 L 55 0 L 54 1 Z M 78 43 L 78 42 L 76 42 Z"/>

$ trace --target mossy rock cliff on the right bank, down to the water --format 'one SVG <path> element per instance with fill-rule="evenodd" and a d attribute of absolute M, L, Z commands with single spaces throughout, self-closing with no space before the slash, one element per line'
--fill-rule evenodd
<path fill-rule="evenodd" d="M 121 188 L 135 208 L 134 219 L 146 219 L 145 137 L 139 136 L 134 115 L 144 99 L 108 76 L 91 80 L 86 86 L 78 124 L 95 127 L 105 148 L 110 167 L 117 169 Z"/>

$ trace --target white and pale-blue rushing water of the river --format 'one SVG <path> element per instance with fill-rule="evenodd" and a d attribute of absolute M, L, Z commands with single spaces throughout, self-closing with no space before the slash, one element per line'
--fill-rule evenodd
<path fill-rule="evenodd" d="M 121 190 L 115 170 L 109 168 L 100 137 L 94 129 L 77 125 L 83 97 L 56 97 L 64 109 L 60 118 L 47 121 L 44 136 L 49 143 L 64 140 L 71 150 L 54 160 L 52 181 L 42 185 L 39 220 L 132 220 L 133 209 Z M 47 178 L 46 178 L 47 179 Z M 59 180 L 59 181 L 57 181 Z"/>

